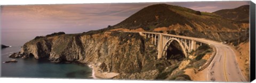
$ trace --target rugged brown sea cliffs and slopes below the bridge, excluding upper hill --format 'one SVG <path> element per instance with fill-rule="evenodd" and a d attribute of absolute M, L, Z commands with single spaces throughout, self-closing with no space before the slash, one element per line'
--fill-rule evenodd
<path fill-rule="evenodd" d="M 197 72 L 208 60 L 204 56 L 209 57 L 212 52 L 209 46 L 203 45 L 191 53 L 193 57 L 182 57 L 181 52 L 172 54 L 172 58 L 168 60 L 158 60 L 157 46 L 150 39 L 132 32 L 58 32 L 35 37 L 23 45 L 19 53 L 9 57 L 33 57 L 54 63 L 92 65 L 93 71 L 97 73 L 117 73 L 111 79 L 193 80 L 188 76 L 191 74 L 185 74 L 185 69 Z M 178 42 L 172 43 L 170 51 L 181 50 Z M 102 77 L 106 79 L 107 76 Z"/>

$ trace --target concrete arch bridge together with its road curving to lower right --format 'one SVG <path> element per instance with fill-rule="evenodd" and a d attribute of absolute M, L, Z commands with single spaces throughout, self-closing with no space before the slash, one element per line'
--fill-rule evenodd
<path fill-rule="evenodd" d="M 191 51 L 195 51 L 195 49 L 203 44 L 210 45 L 213 47 L 214 53 L 211 55 L 211 58 L 207 60 L 205 65 L 199 68 L 199 70 L 205 69 L 205 71 L 202 71 L 205 73 L 205 80 L 226 82 L 248 81 L 237 65 L 237 56 L 234 48 L 229 45 L 204 38 L 170 35 L 158 32 L 138 31 L 138 33 L 145 38 L 151 38 L 151 43 L 157 45 L 157 59 L 167 59 L 167 48 L 173 43 L 177 44 L 180 49 L 182 49 L 182 53 L 185 57 L 188 57 Z M 214 73 L 210 74 L 210 72 Z"/>

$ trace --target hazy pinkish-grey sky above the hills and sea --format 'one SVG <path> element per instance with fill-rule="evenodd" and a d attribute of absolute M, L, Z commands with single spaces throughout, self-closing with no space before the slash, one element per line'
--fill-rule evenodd
<path fill-rule="evenodd" d="M 163 2 L 162 2 L 163 3 Z M 2 30 L 55 30 L 66 33 L 86 32 L 113 26 L 149 5 L 159 3 L 103 3 L 2 5 Z M 214 12 L 234 9 L 248 1 L 169 2 L 196 11 Z"/>

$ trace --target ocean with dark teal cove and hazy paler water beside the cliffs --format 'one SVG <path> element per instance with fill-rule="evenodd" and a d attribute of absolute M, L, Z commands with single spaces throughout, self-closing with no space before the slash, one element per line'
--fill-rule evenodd
<path fill-rule="evenodd" d="M 83 64 L 61 64 L 51 63 L 45 60 L 15 59 L 17 63 L 3 63 L 12 60 L 8 56 L 14 52 L 19 52 L 21 46 L 36 36 L 45 36 L 59 32 L 58 30 L 18 30 L 2 29 L 1 44 L 12 46 L 1 49 L 1 77 L 18 78 L 75 78 L 93 79 L 92 69 Z M 68 34 L 80 33 L 79 31 L 69 31 Z"/>

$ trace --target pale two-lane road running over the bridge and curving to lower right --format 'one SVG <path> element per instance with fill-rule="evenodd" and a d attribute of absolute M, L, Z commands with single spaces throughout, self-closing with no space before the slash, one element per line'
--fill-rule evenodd
<path fill-rule="evenodd" d="M 157 32 L 147 32 L 148 34 L 162 34 Z M 166 36 L 180 37 L 185 39 L 191 39 L 200 41 L 205 44 L 212 45 L 216 48 L 216 55 L 211 64 L 206 70 L 206 81 L 218 81 L 218 82 L 247 82 L 244 78 L 238 63 L 236 54 L 233 49 L 225 44 L 221 44 L 218 41 L 208 40 L 204 38 L 194 38 L 170 34 L 162 34 Z"/>

